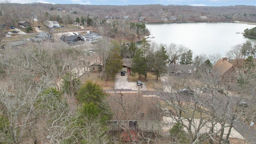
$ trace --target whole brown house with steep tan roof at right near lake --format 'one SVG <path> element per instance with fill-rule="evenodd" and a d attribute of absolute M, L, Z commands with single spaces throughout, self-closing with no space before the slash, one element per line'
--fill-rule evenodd
<path fill-rule="evenodd" d="M 235 80 L 236 70 L 227 58 L 221 58 L 212 66 L 212 74 L 220 75 L 223 81 L 233 81 Z"/>

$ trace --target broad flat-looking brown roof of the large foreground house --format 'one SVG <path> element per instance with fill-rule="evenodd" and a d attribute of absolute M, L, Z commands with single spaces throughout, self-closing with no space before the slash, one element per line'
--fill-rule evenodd
<path fill-rule="evenodd" d="M 146 97 L 139 93 L 110 93 L 108 103 L 114 113 L 112 120 L 162 120 L 158 109 L 158 98 Z"/>

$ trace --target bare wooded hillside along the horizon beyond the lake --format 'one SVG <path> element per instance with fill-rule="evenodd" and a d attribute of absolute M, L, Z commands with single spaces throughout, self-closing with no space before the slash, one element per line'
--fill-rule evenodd
<path fill-rule="evenodd" d="M 256 22 L 256 6 L 236 5 L 236 6 L 188 6 L 188 5 L 81 5 L 81 4 L 15 4 L 16 7 L 22 7 L 20 10 L 42 14 L 52 11 L 56 12 L 56 8 L 62 8 L 66 12 L 76 11 L 76 16 L 90 15 L 94 18 L 104 19 L 106 16 L 112 16 L 114 19 L 124 19 L 137 21 L 140 17 L 145 17 L 148 22 L 164 22 L 161 18 L 167 18 L 168 22 Z M 32 6 L 31 6 L 32 5 Z M 26 8 L 24 8 L 26 7 Z M 28 12 L 24 12 L 28 13 Z M 55 14 L 66 14 L 58 12 Z M 72 15 L 72 13 L 70 13 Z M 177 20 L 170 20 L 172 17 Z M 206 16 L 206 19 L 200 18 Z"/>

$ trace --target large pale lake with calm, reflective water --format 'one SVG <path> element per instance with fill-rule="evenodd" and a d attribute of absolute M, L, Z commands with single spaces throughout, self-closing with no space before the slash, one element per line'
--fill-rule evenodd
<path fill-rule="evenodd" d="M 246 28 L 256 27 L 251 24 L 205 22 L 145 25 L 155 37 L 147 40 L 158 44 L 182 44 L 192 50 L 193 56 L 219 53 L 225 57 L 232 46 L 243 44 L 246 40 L 256 42 L 255 39 L 249 39 L 242 34 Z"/>

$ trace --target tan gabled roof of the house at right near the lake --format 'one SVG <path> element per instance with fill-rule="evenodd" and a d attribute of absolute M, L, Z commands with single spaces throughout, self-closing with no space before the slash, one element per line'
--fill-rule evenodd
<path fill-rule="evenodd" d="M 220 58 L 213 66 L 212 70 L 217 71 L 218 74 L 223 75 L 226 71 L 228 71 L 230 68 L 234 67 L 232 64 L 230 64 L 227 59 Z"/>

